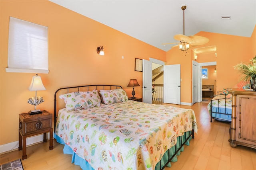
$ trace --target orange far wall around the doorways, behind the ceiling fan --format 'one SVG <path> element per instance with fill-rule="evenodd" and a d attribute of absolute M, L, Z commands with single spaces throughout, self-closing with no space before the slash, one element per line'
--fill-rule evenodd
<path fill-rule="evenodd" d="M 217 62 L 217 91 L 222 88 L 234 87 L 239 79 L 240 75 L 234 67 L 240 62 L 249 62 L 256 55 L 256 27 L 251 37 L 240 37 L 234 35 L 226 35 L 210 32 L 199 32 L 196 35 L 207 37 L 210 41 L 204 45 L 196 46 L 208 47 L 216 45 L 217 57 L 214 54 L 209 55 L 209 58 L 200 59 L 198 55 L 197 61 L 199 63 L 205 62 Z M 250 45 L 252 44 L 252 45 Z M 180 51 L 178 48 L 170 49 L 166 55 L 167 64 L 181 64 L 181 102 L 192 102 L 192 60 L 194 60 L 194 53 L 191 49 L 187 51 Z"/>

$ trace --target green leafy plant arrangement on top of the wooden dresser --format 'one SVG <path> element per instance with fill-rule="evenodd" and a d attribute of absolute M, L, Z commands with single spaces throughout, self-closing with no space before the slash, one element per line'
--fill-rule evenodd
<path fill-rule="evenodd" d="M 256 90 L 256 56 L 249 60 L 248 64 L 240 63 L 234 66 L 242 74 L 244 82 L 248 82 L 253 90 Z"/>

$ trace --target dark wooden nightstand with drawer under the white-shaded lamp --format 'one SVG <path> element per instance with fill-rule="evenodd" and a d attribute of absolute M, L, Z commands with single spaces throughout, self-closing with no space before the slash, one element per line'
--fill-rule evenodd
<path fill-rule="evenodd" d="M 44 133 L 46 142 L 46 132 L 50 132 L 49 150 L 53 149 L 52 143 L 52 113 L 43 110 L 40 114 L 29 115 L 29 113 L 21 113 L 19 120 L 19 150 L 22 150 L 22 159 L 27 158 L 26 154 L 26 138 Z"/>

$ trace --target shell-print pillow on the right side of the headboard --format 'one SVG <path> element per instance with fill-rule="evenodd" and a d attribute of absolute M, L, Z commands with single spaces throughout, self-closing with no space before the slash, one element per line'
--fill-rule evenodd
<path fill-rule="evenodd" d="M 113 104 L 128 100 L 128 96 L 123 89 L 100 90 L 100 95 L 104 104 Z"/>

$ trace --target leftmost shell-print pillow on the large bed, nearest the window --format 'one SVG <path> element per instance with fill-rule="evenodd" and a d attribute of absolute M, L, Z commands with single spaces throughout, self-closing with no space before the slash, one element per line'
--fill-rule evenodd
<path fill-rule="evenodd" d="M 84 92 L 72 92 L 68 94 L 62 94 L 59 96 L 63 99 L 68 110 L 80 110 L 82 107 L 87 107 L 86 94 Z"/>

